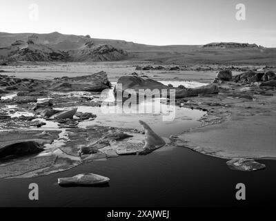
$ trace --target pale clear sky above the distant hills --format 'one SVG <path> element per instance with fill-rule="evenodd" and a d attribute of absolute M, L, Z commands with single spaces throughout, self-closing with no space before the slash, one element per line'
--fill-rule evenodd
<path fill-rule="evenodd" d="M 239 3 L 245 10 L 236 9 Z M 0 32 L 57 31 L 150 45 L 234 41 L 276 47 L 275 10 L 276 0 L 0 0 Z"/>

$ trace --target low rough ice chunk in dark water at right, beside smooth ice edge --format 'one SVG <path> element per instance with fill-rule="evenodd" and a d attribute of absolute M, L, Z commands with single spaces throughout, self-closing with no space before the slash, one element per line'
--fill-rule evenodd
<path fill-rule="evenodd" d="M 230 169 L 237 171 L 257 171 L 265 169 L 266 165 L 255 162 L 253 159 L 233 158 L 226 162 Z"/>

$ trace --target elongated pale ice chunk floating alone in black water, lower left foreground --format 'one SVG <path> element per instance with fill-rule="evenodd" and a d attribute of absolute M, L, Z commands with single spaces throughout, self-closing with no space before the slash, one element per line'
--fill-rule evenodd
<path fill-rule="evenodd" d="M 73 177 L 58 178 L 59 185 L 99 185 L 107 184 L 110 181 L 108 177 L 94 173 L 82 173 Z"/>

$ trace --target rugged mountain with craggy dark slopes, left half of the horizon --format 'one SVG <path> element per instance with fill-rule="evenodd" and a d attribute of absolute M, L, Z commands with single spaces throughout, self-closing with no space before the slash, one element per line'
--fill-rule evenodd
<path fill-rule="evenodd" d="M 50 34 L 0 33 L 0 59 L 5 61 L 117 61 L 128 52 L 90 37 Z"/>

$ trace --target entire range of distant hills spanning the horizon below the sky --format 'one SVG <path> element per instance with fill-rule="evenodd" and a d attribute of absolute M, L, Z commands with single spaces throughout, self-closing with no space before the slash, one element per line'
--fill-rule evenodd
<path fill-rule="evenodd" d="M 206 45 L 150 46 L 89 35 L 0 32 L 0 60 L 152 61 L 165 64 L 276 64 L 276 48 L 220 42 Z"/>

